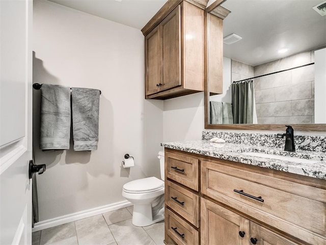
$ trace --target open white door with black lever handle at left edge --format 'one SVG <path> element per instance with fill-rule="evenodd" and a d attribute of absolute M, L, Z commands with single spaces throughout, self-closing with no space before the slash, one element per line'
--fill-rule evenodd
<path fill-rule="evenodd" d="M 0 0 L 0 244 L 32 243 L 32 0 Z"/>

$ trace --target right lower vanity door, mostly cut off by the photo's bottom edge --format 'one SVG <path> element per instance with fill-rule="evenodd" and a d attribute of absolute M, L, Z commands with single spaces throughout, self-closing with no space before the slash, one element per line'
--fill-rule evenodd
<path fill-rule="evenodd" d="M 257 245 L 296 245 L 274 232 L 271 232 L 253 222 L 250 222 L 250 241 Z"/>

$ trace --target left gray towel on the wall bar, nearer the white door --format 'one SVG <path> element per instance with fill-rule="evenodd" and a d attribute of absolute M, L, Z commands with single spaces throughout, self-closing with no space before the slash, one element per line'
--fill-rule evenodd
<path fill-rule="evenodd" d="M 70 146 L 70 88 L 43 84 L 41 87 L 41 150 L 68 150 Z"/>

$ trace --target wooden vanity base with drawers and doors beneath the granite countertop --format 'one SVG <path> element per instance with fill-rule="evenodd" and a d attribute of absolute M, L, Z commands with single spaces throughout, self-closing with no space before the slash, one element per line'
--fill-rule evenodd
<path fill-rule="evenodd" d="M 203 245 L 326 245 L 323 180 L 172 149 L 165 156 L 166 242 L 193 244 L 180 234 L 199 228 Z"/>

